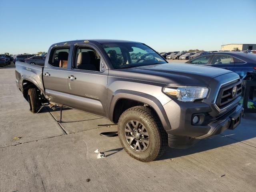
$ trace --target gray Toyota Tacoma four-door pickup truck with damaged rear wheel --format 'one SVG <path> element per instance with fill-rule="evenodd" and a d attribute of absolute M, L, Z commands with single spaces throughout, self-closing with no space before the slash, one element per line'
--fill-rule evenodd
<path fill-rule="evenodd" d="M 16 62 L 16 83 L 33 113 L 58 104 L 117 123 L 124 150 L 142 162 L 234 129 L 243 113 L 236 73 L 169 64 L 140 42 L 56 43 L 44 66 Z"/>

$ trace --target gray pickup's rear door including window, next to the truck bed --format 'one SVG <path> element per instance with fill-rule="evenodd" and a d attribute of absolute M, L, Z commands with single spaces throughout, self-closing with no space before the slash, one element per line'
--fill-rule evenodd
<path fill-rule="evenodd" d="M 68 68 L 60 67 L 60 60 L 70 64 L 70 46 L 52 47 L 48 62 L 44 65 L 43 81 L 46 96 L 52 102 L 70 106 L 68 95 Z"/>

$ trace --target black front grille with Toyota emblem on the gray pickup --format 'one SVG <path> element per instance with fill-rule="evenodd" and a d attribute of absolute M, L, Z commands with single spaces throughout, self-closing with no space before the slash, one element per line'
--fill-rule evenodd
<path fill-rule="evenodd" d="M 220 87 L 220 90 L 216 99 L 216 106 L 218 106 L 218 108 L 222 110 L 227 106 L 231 105 L 236 100 L 238 100 L 238 98 L 241 97 L 241 94 L 242 94 L 242 84 L 239 79 L 223 84 Z"/>

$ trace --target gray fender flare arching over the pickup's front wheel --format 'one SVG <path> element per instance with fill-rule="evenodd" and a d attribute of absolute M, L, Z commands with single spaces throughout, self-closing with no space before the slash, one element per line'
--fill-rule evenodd
<path fill-rule="evenodd" d="M 113 93 L 112 98 L 110 100 L 110 108 L 108 110 L 109 119 L 111 121 L 113 121 L 113 113 L 116 103 L 120 99 L 130 99 L 149 105 L 156 111 L 158 117 L 160 118 L 160 121 L 162 122 L 164 129 L 171 129 L 170 122 L 168 120 L 164 107 L 157 98 L 149 94 L 131 90 L 117 90 Z"/>

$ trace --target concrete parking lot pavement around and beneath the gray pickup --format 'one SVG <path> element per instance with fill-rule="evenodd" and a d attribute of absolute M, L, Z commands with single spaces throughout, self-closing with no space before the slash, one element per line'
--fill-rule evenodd
<path fill-rule="evenodd" d="M 168 60 L 186 62 L 186 60 Z M 160 159 L 131 158 L 104 118 L 64 108 L 39 114 L 16 87 L 14 64 L 0 68 L 0 191 L 244 191 L 256 189 L 256 114 L 235 130 Z M 97 159 L 94 151 L 106 153 Z"/>

